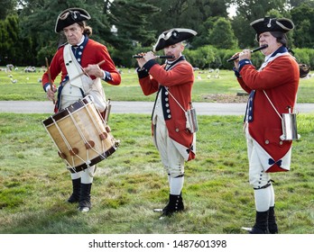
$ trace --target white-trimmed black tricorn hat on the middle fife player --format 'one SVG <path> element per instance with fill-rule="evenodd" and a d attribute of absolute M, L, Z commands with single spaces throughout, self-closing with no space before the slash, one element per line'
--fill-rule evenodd
<path fill-rule="evenodd" d="M 183 40 L 188 40 L 189 38 L 198 34 L 197 31 L 184 28 L 173 28 L 168 31 L 163 31 L 159 35 L 156 44 L 152 47 L 153 51 L 164 49 Z"/>

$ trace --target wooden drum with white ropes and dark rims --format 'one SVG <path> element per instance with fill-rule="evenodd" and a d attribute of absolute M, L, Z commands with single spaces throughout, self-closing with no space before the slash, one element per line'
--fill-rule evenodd
<path fill-rule="evenodd" d="M 42 124 L 71 172 L 97 164 L 113 154 L 117 147 L 109 126 L 88 97 L 52 115 Z M 78 152 L 77 155 L 71 154 L 70 149 Z"/>

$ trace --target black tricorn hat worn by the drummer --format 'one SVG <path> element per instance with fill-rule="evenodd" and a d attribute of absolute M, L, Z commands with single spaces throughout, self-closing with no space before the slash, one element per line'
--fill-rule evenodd
<path fill-rule="evenodd" d="M 57 18 L 54 31 L 59 33 L 64 27 L 90 19 L 88 12 L 81 8 L 69 8 L 61 12 Z"/>

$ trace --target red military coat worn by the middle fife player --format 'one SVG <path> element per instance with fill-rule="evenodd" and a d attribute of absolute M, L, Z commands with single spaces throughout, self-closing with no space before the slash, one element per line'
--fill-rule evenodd
<path fill-rule="evenodd" d="M 153 61 L 153 60 L 152 60 Z M 160 85 L 169 88 L 169 92 L 175 97 L 185 111 L 189 110 L 191 103 L 192 85 L 194 82 L 193 67 L 184 58 L 178 61 L 170 70 L 165 70 L 164 66 L 152 63 L 152 67 L 147 70 L 150 76 L 139 79 L 143 94 L 149 95 L 159 91 Z M 167 94 L 168 95 L 168 94 Z M 178 103 L 168 95 L 169 107 L 165 108 L 167 103 L 162 101 L 162 109 L 168 108 L 171 118 L 165 118 L 166 126 L 171 139 L 180 143 L 189 151 L 189 160 L 195 158 L 193 147 L 193 133 L 186 129 L 186 117 Z M 153 134 L 153 130 L 152 130 Z"/>

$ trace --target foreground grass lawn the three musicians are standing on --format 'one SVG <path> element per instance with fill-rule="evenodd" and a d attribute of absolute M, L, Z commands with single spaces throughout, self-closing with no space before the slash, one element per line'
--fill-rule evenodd
<path fill-rule="evenodd" d="M 2 234 L 244 234 L 254 224 L 242 116 L 199 116 L 197 158 L 186 163 L 186 211 L 158 220 L 168 184 L 149 115 L 112 114 L 120 147 L 98 164 L 93 208 L 66 201 L 69 172 L 42 126 L 48 114 L 0 113 Z M 273 174 L 282 234 L 314 233 L 314 115 L 300 114 L 291 171 Z"/>

